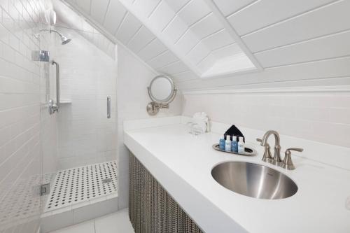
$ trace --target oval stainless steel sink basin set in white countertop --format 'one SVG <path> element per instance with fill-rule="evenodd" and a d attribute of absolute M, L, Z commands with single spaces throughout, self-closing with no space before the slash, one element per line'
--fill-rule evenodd
<path fill-rule="evenodd" d="M 223 187 L 258 199 L 283 199 L 297 192 L 297 185 L 285 174 L 250 162 L 224 162 L 211 175 Z"/>

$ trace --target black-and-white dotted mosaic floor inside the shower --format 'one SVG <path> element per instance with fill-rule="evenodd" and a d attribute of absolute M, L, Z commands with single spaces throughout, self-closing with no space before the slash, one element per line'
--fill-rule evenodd
<path fill-rule="evenodd" d="M 116 161 L 57 171 L 44 211 L 118 193 Z"/>

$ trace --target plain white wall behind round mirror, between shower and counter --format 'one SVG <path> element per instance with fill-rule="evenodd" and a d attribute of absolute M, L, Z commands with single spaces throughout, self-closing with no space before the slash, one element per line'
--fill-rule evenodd
<path fill-rule="evenodd" d="M 123 121 L 151 118 L 146 112 L 146 105 L 150 102 L 146 87 L 156 75 L 155 71 L 140 62 L 128 50 L 121 45 L 118 47 L 118 202 L 120 209 L 127 207 L 129 190 L 129 151 L 123 142 Z M 170 104 L 169 109 L 162 109 L 153 118 L 181 115 L 181 111 L 182 94 L 180 92 Z"/>

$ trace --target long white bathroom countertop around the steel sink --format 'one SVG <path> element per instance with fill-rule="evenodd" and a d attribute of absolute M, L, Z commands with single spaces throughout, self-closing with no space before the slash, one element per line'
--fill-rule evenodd
<path fill-rule="evenodd" d="M 211 146 L 220 136 L 214 132 L 195 137 L 181 123 L 155 125 L 158 126 L 125 127 L 124 143 L 204 232 L 350 232 L 349 169 L 293 153 L 296 169 L 286 171 L 262 162 L 263 148 L 244 130 L 246 145 L 255 148 L 258 155 L 245 157 L 214 150 Z M 342 153 L 344 150 L 347 151 L 343 148 Z M 329 158 L 337 159 L 333 155 Z M 292 178 L 298 191 L 277 200 L 239 195 L 211 176 L 211 169 L 225 161 L 272 167 Z"/>

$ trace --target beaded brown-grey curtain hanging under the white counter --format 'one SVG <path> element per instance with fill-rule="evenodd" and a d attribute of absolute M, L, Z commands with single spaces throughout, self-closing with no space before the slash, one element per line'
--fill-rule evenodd
<path fill-rule="evenodd" d="M 129 162 L 129 216 L 136 233 L 202 233 L 132 153 Z"/>

